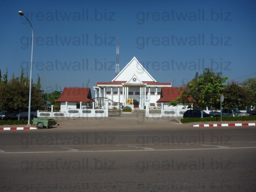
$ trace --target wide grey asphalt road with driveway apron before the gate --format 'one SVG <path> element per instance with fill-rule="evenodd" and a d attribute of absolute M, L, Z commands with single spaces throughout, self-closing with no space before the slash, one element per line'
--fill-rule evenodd
<path fill-rule="evenodd" d="M 256 127 L 60 119 L 0 132 L 0 191 L 256 191 Z"/>

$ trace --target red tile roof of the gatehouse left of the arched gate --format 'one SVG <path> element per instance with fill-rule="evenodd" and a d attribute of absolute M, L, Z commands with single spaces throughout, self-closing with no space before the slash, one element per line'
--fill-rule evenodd
<path fill-rule="evenodd" d="M 92 98 L 90 88 L 65 87 L 56 102 L 86 102 Z"/>

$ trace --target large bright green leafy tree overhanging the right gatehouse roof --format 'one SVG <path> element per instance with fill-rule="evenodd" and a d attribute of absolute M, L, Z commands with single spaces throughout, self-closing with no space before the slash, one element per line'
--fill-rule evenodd
<path fill-rule="evenodd" d="M 218 108 L 220 104 L 220 94 L 224 89 L 223 83 L 228 77 L 222 77 L 222 72 L 214 73 L 211 68 L 206 68 L 203 74 L 197 79 L 193 79 L 181 88 L 181 96 L 171 101 L 169 105 L 188 105 L 189 107 L 204 109 L 206 106 Z M 192 99 L 195 102 L 192 102 Z"/>

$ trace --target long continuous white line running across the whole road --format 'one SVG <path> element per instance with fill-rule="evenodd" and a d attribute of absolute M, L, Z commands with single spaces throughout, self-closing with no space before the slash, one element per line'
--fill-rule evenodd
<path fill-rule="evenodd" d="M 35 152 L 4 152 L 2 154 L 24 154 L 24 153 L 67 153 L 67 152 L 135 152 L 135 151 L 184 151 L 184 150 L 215 150 L 215 149 L 250 149 L 256 147 L 234 147 L 234 148 L 194 148 L 194 149 L 153 149 L 153 150 L 98 150 L 98 151 L 35 151 Z"/>

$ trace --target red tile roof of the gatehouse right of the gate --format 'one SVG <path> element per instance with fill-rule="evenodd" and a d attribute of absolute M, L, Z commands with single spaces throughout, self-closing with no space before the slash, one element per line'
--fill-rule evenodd
<path fill-rule="evenodd" d="M 182 87 L 162 87 L 161 88 L 161 97 L 156 102 L 170 102 L 172 100 L 176 100 L 178 96 L 180 96 L 180 89 Z M 195 101 L 192 98 L 188 98 L 189 101 Z"/>

